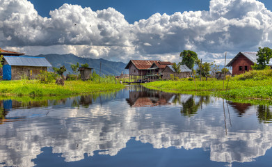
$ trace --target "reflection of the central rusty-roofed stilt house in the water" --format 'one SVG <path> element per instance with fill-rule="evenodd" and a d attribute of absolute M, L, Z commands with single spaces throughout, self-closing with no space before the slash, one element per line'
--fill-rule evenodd
<path fill-rule="evenodd" d="M 131 86 L 127 103 L 131 107 L 164 106 L 170 104 L 169 101 L 173 96 L 173 93 L 163 93 L 159 90 L 150 90 L 144 87 Z"/>

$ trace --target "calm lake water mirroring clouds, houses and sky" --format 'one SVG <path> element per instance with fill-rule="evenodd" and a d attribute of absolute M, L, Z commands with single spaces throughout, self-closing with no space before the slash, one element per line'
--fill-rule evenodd
<path fill-rule="evenodd" d="M 0 106 L 0 166 L 271 166 L 271 106 L 140 86 Z"/>

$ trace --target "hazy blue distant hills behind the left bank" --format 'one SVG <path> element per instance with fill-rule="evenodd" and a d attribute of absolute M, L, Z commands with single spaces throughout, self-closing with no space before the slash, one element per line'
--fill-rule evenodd
<path fill-rule="evenodd" d="M 102 58 L 100 59 L 81 58 L 75 56 L 74 54 L 46 54 L 46 55 L 40 54 L 36 57 L 47 58 L 47 61 L 49 61 L 53 67 L 61 67 L 65 65 L 67 69 L 65 74 L 68 74 L 69 72 L 72 74 L 73 72 L 70 65 L 77 64 L 77 62 L 79 62 L 79 67 L 81 64 L 88 63 L 89 67 L 94 68 L 97 74 L 99 74 L 100 62 L 101 62 L 101 74 L 120 75 L 121 72 L 124 72 L 124 74 L 128 73 L 128 70 L 125 70 L 125 66 L 127 64 L 122 62 L 106 61 Z"/>

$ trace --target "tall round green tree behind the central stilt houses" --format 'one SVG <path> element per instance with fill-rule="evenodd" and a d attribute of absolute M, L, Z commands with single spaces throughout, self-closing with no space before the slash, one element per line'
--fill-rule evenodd
<path fill-rule="evenodd" d="M 179 56 L 182 57 L 181 64 L 186 65 L 191 70 L 193 69 L 193 65 L 195 65 L 195 61 L 198 60 L 198 54 L 191 50 L 184 50 L 179 54 Z"/>

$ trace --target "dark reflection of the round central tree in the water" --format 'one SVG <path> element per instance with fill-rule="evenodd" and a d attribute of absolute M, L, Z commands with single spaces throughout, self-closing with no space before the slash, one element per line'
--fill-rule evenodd
<path fill-rule="evenodd" d="M 189 100 L 186 102 L 182 102 L 182 109 L 180 110 L 180 113 L 182 113 L 182 116 L 193 116 L 196 113 L 198 113 L 198 109 L 202 107 L 202 104 L 209 104 L 210 103 L 210 97 L 209 96 L 200 96 L 200 100 L 196 102 L 195 95 L 191 96 Z"/>

